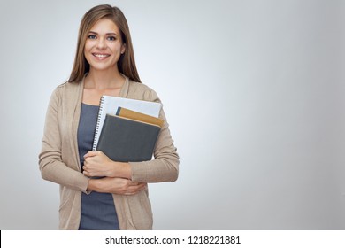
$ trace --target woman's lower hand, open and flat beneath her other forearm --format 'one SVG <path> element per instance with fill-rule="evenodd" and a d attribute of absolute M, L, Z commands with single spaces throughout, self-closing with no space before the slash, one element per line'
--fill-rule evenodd
<path fill-rule="evenodd" d="M 88 191 L 101 193 L 112 193 L 118 195 L 132 196 L 147 187 L 147 183 L 132 182 L 125 178 L 103 177 L 101 179 L 90 179 Z"/>

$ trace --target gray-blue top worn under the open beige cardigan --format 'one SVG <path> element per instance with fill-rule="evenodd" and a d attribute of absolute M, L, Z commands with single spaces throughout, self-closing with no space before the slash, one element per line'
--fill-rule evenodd
<path fill-rule="evenodd" d="M 84 163 L 83 156 L 92 150 L 98 109 L 96 105 L 81 104 L 77 134 L 81 167 Z M 119 229 L 118 216 L 110 193 L 81 193 L 80 210 L 80 230 Z"/>

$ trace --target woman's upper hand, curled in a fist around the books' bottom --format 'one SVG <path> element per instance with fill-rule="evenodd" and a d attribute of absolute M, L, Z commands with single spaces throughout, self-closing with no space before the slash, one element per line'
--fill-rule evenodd
<path fill-rule="evenodd" d="M 88 151 L 84 159 L 83 174 L 88 177 L 132 177 L 132 170 L 128 163 L 112 161 L 102 151 Z"/>

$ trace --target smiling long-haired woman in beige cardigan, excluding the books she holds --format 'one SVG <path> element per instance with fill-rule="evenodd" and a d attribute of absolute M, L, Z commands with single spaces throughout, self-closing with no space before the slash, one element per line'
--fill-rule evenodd
<path fill-rule="evenodd" d="M 173 182 L 179 170 L 165 113 L 155 159 L 111 161 L 91 151 L 102 95 L 160 102 L 140 81 L 125 16 L 110 5 L 81 20 L 71 76 L 50 97 L 39 165 L 60 185 L 59 229 L 152 229 L 147 183 Z"/>

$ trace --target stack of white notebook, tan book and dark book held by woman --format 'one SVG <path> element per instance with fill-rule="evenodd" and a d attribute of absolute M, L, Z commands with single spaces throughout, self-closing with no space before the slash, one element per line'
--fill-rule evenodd
<path fill-rule="evenodd" d="M 122 97 L 101 97 L 93 150 L 113 161 L 141 162 L 152 159 L 164 120 L 162 105 Z"/>

